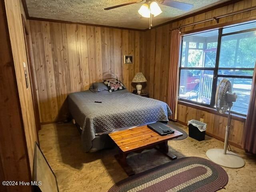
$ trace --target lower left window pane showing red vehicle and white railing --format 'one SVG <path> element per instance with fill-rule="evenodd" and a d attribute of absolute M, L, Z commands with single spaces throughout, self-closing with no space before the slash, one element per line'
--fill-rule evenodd
<path fill-rule="evenodd" d="M 213 71 L 181 70 L 179 97 L 195 102 L 210 104 Z"/>

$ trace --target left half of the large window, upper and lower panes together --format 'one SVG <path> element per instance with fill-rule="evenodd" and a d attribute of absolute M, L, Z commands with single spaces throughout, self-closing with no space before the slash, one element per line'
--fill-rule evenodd
<path fill-rule="evenodd" d="M 218 30 L 184 36 L 182 42 L 179 97 L 210 105 Z"/>

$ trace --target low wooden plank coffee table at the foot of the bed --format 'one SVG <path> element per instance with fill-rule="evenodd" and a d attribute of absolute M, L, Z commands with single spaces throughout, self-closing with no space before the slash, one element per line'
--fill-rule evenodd
<path fill-rule="evenodd" d="M 180 137 L 183 134 L 175 130 L 174 134 L 160 136 L 145 125 L 117 131 L 108 135 L 119 147 L 119 154 L 115 155 L 116 159 L 128 176 L 130 176 L 134 174 L 132 168 L 126 162 L 126 157 L 130 152 L 141 152 L 144 149 L 156 148 L 174 160 L 177 157 L 169 152 L 168 140 Z"/>

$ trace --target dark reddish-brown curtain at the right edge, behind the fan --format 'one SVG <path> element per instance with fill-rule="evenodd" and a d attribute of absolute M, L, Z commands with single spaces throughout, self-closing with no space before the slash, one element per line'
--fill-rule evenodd
<path fill-rule="evenodd" d="M 256 154 L 256 68 L 254 68 L 254 75 L 252 78 L 252 90 L 243 141 L 244 150 Z"/>

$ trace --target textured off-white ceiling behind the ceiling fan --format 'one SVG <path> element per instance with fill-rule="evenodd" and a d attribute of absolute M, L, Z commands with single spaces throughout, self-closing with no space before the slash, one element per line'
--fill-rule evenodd
<path fill-rule="evenodd" d="M 142 18 L 138 14 L 138 9 L 143 2 L 113 10 L 103 10 L 103 8 L 109 6 L 131 1 L 133 0 L 26 0 L 26 4 L 30 17 L 136 29 L 148 28 L 148 18 Z M 152 23 L 154 26 L 227 0 L 177 1 L 194 4 L 194 8 L 185 12 L 160 4 L 163 12 L 153 18 Z"/>

